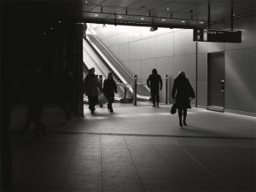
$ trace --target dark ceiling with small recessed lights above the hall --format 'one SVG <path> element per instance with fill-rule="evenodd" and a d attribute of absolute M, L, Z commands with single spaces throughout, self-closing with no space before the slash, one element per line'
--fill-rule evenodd
<path fill-rule="evenodd" d="M 2 1 L 3 2 L 3 1 Z M 15 22 L 42 28 L 67 21 L 193 28 L 256 12 L 255 0 L 44 0 L 5 1 Z M 210 9 L 209 9 L 210 8 Z M 209 12 L 210 10 L 210 12 Z"/>

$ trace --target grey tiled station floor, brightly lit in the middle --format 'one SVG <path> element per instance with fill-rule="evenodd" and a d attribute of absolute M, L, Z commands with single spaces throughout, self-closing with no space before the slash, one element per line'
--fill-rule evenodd
<path fill-rule="evenodd" d="M 15 188 L 25 191 L 255 191 L 256 119 L 189 110 L 178 126 L 170 106 L 97 108 L 63 124 L 44 108 L 47 135 L 20 137 L 13 111 Z"/>

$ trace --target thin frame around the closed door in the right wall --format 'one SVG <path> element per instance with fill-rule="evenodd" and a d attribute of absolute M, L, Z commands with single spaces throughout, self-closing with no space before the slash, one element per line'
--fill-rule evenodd
<path fill-rule="evenodd" d="M 207 53 L 207 110 L 212 110 L 212 111 L 218 111 L 218 112 L 224 112 L 224 107 L 225 107 L 225 85 L 224 85 L 224 91 L 223 91 L 223 106 L 213 106 L 210 105 L 210 55 L 215 55 L 215 54 L 222 54 L 223 55 L 223 60 L 224 60 L 224 51 L 219 51 L 219 52 L 212 52 L 212 53 Z M 225 84 L 225 61 L 223 61 L 223 80 Z M 220 82 L 219 82 L 220 86 Z"/>

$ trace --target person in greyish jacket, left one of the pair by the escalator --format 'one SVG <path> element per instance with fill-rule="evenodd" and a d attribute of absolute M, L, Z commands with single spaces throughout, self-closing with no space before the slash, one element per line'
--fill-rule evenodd
<path fill-rule="evenodd" d="M 98 102 L 98 89 L 102 92 L 101 84 L 91 68 L 84 79 L 84 93 L 88 96 L 89 109 L 92 114 L 95 113 L 95 106 Z"/>

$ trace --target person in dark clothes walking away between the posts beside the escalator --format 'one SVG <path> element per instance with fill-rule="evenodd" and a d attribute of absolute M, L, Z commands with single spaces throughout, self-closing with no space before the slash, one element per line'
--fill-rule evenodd
<path fill-rule="evenodd" d="M 152 74 L 149 75 L 147 79 L 147 85 L 150 89 L 150 94 L 153 102 L 153 108 L 159 108 L 159 90 L 162 90 L 162 79 L 160 75 L 157 73 L 156 69 L 152 70 Z M 156 102 L 156 106 L 155 106 Z"/>

